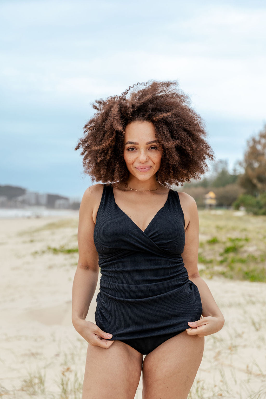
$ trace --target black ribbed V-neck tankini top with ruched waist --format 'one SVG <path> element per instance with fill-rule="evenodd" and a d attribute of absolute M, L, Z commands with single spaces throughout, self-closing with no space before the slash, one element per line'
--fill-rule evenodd
<path fill-rule="evenodd" d="M 199 290 L 181 257 L 184 226 L 176 191 L 142 231 L 104 184 L 93 235 L 101 272 L 95 323 L 112 340 L 177 333 L 201 317 Z"/>

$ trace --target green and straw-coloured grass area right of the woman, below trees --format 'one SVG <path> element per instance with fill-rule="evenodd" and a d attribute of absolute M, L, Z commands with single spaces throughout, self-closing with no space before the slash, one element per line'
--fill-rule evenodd
<path fill-rule="evenodd" d="M 224 209 L 223 217 L 199 210 L 198 262 L 201 275 L 266 282 L 266 216 L 234 216 Z"/>

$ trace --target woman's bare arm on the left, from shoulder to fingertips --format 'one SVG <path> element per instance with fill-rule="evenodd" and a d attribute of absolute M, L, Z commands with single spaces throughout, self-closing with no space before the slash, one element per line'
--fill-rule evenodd
<path fill-rule="evenodd" d="M 93 240 L 95 227 L 93 209 L 96 201 L 100 203 L 102 194 L 100 186 L 102 185 L 95 184 L 95 186 L 87 188 L 79 208 L 79 260 L 72 289 L 72 324 L 75 330 L 90 344 L 108 348 L 113 341 L 110 341 L 107 333 L 95 323 L 85 320 L 99 276 L 99 258 Z M 98 336 L 105 339 L 101 340 Z"/>

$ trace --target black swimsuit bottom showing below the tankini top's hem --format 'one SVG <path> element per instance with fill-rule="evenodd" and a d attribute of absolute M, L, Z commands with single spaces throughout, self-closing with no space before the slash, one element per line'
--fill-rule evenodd
<path fill-rule="evenodd" d="M 129 346 L 132 346 L 132 348 L 136 349 L 142 355 L 148 355 L 155 348 L 157 348 L 157 346 L 161 345 L 166 340 L 169 340 L 169 338 L 172 338 L 175 335 L 180 334 L 180 332 L 183 332 L 183 331 L 185 331 L 185 330 L 175 331 L 175 332 L 162 334 L 162 335 L 157 335 L 154 337 L 131 338 L 131 339 L 120 340 L 120 341 L 124 342 L 125 344 L 128 344 Z"/>

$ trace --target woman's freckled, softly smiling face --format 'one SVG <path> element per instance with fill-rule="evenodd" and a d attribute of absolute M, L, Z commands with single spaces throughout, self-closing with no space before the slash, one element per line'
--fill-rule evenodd
<path fill-rule="evenodd" d="M 139 180 L 150 179 L 160 168 L 162 154 L 152 122 L 134 121 L 126 126 L 124 160 L 130 174 Z"/>

